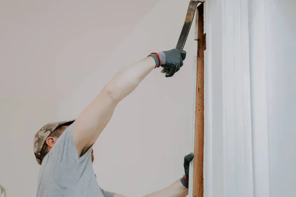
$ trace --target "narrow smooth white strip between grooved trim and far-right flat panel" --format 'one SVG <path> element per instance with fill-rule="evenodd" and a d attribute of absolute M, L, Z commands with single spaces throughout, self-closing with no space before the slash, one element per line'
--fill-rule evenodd
<path fill-rule="evenodd" d="M 250 0 L 254 196 L 269 197 L 265 0 Z"/>

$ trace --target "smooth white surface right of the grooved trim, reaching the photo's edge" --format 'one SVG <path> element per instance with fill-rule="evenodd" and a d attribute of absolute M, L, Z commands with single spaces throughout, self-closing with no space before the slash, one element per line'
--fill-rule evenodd
<path fill-rule="evenodd" d="M 296 196 L 296 2 L 251 3 L 255 196 Z"/>

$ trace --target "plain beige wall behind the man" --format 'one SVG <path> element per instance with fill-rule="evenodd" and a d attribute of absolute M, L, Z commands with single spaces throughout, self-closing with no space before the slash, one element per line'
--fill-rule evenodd
<path fill-rule="evenodd" d="M 81 2 L 0 2 L 0 184 L 8 197 L 35 194 L 36 130 L 77 116 L 121 67 L 174 48 L 188 5 Z M 190 151 L 193 37 L 192 31 L 182 70 L 173 78 L 154 70 L 119 104 L 95 144 L 104 189 L 139 197 L 182 176 Z"/>

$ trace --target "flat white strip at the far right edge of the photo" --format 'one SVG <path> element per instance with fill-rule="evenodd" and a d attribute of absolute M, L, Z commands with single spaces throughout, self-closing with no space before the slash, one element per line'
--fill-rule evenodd
<path fill-rule="evenodd" d="M 270 196 L 295 197 L 296 1 L 266 1 Z"/>

